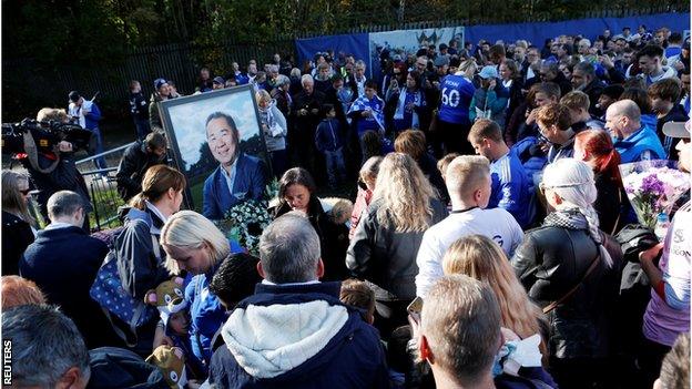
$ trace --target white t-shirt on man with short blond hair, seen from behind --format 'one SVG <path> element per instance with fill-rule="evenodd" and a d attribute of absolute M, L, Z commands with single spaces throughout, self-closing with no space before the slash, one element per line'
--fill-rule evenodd
<path fill-rule="evenodd" d="M 468 235 L 484 235 L 502 247 L 508 257 L 515 254 L 523 239 L 523 232 L 515 217 L 502 208 L 474 208 L 450 214 L 423 235 L 416 264 L 416 295 L 425 298 L 428 289 L 442 277 L 442 257 L 457 239 Z"/>

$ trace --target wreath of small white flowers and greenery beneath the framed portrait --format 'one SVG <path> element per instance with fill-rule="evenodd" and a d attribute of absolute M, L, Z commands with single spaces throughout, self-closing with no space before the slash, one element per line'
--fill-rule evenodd
<path fill-rule="evenodd" d="M 278 193 L 278 182 L 273 180 L 265 190 L 265 198 L 273 198 Z M 265 201 L 248 199 L 226 211 L 224 218 L 215 222 L 227 238 L 234 239 L 254 256 L 260 254 L 260 236 L 272 216 Z"/>

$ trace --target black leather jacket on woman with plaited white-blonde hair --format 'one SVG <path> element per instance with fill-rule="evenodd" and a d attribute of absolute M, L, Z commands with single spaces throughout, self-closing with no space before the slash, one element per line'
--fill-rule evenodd
<path fill-rule="evenodd" d="M 588 231 L 542 226 L 527 232 L 511 259 L 529 297 L 546 307 L 579 284 L 598 255 Z M 609 330 L 604 314 L 612 295 L 606 262 L 587 277 L 579 289 L 548 314 L 549 349 L 556 358 L 598 358 L 607 352 Z M 612 308 L 612 306 L 610 306 Z"/>

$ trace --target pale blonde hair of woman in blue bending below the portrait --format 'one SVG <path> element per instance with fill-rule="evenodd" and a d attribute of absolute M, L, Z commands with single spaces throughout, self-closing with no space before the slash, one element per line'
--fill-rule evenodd
<path fill-rule="evenodd" d="M 201 248 L 206 244 L 212 252 L 212 267 L 231 253 L 224 234 L 208 218 L 194 211 L 180 211 L 171 216 L 161 229 L 160 243 L 177 248 Z M 166 257 L 165 267 L 172 273 L 180 273 L 173 258 Z"/>

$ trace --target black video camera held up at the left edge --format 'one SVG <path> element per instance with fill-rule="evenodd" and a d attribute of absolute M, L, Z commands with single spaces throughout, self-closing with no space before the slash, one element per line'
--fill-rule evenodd
<path fill-rule="evenodd" d="M 93 147 L 92 132 L 78 124 L 24 119 L 19 123 L 2 123 L 2 153 L 24 153 L 24 134 L 28 132 L 40 153 L 53 152 L 54 145 L 61 141 L 72 143 L 74 151 Z"/>

